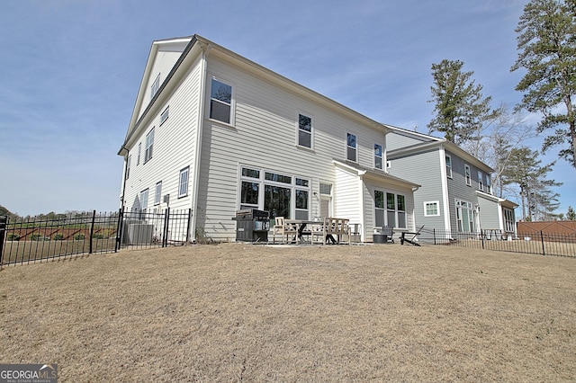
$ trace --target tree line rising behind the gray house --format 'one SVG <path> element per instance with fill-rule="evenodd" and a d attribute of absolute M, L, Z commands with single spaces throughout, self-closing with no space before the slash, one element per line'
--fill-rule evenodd
<path fill-rule="evenodd" d="M 516 86 L 523 93 L 514 107 L 492 108 L 473 71 L 464 62 L 444 59 L 432 64 L 435 117 L 428 134 L 445 138 L 490 165 L 495 193 L 515 195 L 521 201 L 522 219 L 574 218 L 574 211 L 556 214 L 560 195 L 552 188 L 563 183 L 548 179 L 555 161 L 538 159 L 559 147 L 558 159 L 576 167 L 576 0 L 531 0 L 515 30 L 518 58 L 510 71 L 524 70 Z M 541 116 L 536 126 L 526 123 L 527 113 Z M 542 151 L 523 143 L 545 133 Z"/>

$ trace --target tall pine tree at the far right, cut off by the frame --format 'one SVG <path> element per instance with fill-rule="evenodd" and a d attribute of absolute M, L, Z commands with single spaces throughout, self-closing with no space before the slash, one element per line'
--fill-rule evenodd
<path fill-rule="evenodd" d="M 554 129 L 543 152 L 563 146 L 559 157 L 576 167 L 576 1 L 532 0 L 516 31 L 519 53 L 511 70 L 527 70 L 516 87 L 524 93 L 519 106 L 543 113 L 538 132 Z"/>

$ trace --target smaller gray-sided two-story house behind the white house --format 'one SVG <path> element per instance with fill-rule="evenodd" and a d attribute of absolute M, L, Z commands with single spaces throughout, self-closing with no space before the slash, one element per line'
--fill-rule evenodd
<path fill-rule="evenodd" d="M 414 217 L 441 236 L 516 234 L 518 204 L 493 195 L 493 169 L 445 138 L 387 126 L 389 173 L 418 182 Z"/>

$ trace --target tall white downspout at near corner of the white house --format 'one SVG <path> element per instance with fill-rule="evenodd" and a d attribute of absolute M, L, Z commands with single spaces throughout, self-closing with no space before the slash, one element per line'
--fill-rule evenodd
<path fill-rule="evenodd" d="M 208 76 L 208 52 L 210 51 L 210 44 L 203 45 L 201 43 L 202 48 L 202 76 L 200 80 L 200 100 L 199 100 L 199 112 L 198 112 L 198 121 L 197 121 L 197 130 L 196 130 L 196 147 L 194 153 L 194 166 L 193 166 L 193 193 L 192 193 L 192 201 L 191 201 L 191 209 L 192 209 L 192 225 L 190 225 L 190 231 L 188 236 L 192 238 L 192 242 L 196 242 L 196 226 L 198 222 L 198 212 L 196 210 L 198 206 L 198 189 L 200 188 L 200 165 L 202 159 L 202 129 L 204 126 L 204 110 L 206 109 L 206 102 L 204 100 L 206 96 L 206 76 Z"/>

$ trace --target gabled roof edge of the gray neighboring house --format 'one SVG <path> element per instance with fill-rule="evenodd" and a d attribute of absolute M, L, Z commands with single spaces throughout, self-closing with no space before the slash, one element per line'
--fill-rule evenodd
<path fill-rule="evenodd" d="M 494 172 L 494 169 L 492 169 L 491 166 L 484 164 L 481 160 L 466 152 L 462 147 L 458 147 L 455 143 L 448 141 L 446 138 L 434 137 L 428 134 L 419 133 L 417 131 L 401 129 L 388 124 L 384 125 L 386 125 L 392 133 L 405 137 L 415 138 L 420 141 L 418 144 L 410 145 L 408 147 L 400 147 L 398 149 L 386 151 L 386 156 L 389 160 L 398 158 L 400 156 L 413 156 L 429 150 L 444 148 L 446 151 L 459 156 L 467 163 L 476 166 L 478 169 L 481 169 L 485 173 Z"/>

